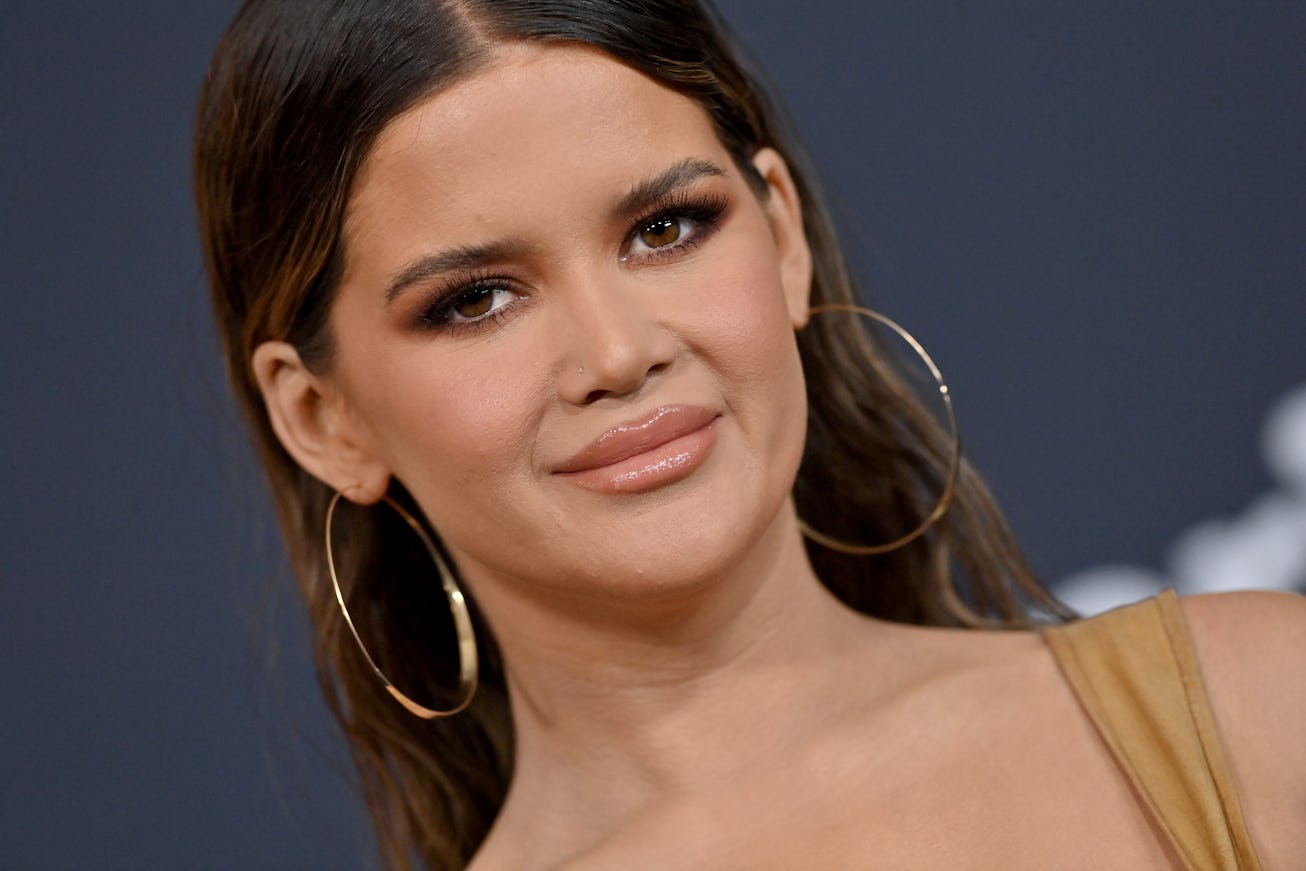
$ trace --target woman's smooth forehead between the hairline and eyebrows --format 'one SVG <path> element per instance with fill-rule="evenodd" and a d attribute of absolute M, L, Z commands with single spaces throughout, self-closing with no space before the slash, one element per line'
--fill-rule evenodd
<path fill-rule="evenodd" d="M 684 157 L 730 166 L 692 99 L 596 50 L 513 43 L 381 132 L 345 231 L 362 242 L 379 219 L 432 213 L 465 231 L 533 204 L 619 195 Z"/>

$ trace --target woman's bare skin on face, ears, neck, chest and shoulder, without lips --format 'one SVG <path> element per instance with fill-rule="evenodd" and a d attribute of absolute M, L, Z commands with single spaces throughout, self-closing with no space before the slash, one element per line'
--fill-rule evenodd
<path fill-rule="evenodd" d="M 754 165 L 765 196 L 697 104 L 599 54 L 503 47 L 371 154 L 330 370 L 255 355 L 291 454 L 364 504 L 402 481 L 496 629 L 517 767 L 473 867 L 1173 864 L 1037 636 L 872 620 L 815 577 L 789 499 L 811 260 L 784 161 Z M 667 404 L 718 415 L 687 477 L 558 474 Z M 1186 610 L 1262 858 L 1299 867 L 1306 605 Z"/>

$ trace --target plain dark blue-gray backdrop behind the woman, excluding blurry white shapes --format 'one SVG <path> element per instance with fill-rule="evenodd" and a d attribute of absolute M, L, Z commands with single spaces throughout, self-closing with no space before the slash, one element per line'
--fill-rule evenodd
<path fill-rule="evenodd" d="M 189 128 L 234 5 L 5 8 L 4 867 L 370 855 L 200 281 Z M 1303 4 L 724 8 L 1045 576 L 1160 565 L 1271 486 Z"/>

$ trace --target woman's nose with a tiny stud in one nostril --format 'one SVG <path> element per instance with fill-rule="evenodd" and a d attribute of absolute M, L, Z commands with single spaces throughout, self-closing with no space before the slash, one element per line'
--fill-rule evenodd
<path fill-rule="evenodd" d="M 639 393 L 675 359 L 678 342 L 645 287 L 603 287 L 568 294 L 567 336 L 558 389 L 573 405 Z"/>

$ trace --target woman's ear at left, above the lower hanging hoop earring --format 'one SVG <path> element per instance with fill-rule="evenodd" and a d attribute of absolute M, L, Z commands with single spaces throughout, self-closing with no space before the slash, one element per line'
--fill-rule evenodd
<path fill-rule="evenodd" d="M 353 501 L 379 500 L 389 469 L 330 380 L 313 375 L 286 342 L 264 342 L 251 363 L 272 428 L 295 462 Z"/>

